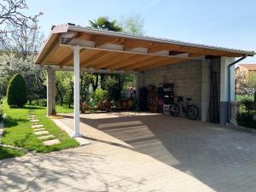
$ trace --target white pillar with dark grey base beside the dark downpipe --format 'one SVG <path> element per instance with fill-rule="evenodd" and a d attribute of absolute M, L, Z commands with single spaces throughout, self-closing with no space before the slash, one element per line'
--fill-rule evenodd
<path fill-rule="evenodd" d="M 230 102 L 235 99 L 235 68 L 230 68 L 230 90 L 229 90 L 229 65 L 235 61 L 232 57 L 221 57 L 220 59 L 220 124 L 229 121 L 229 91 Z M 234 89 L 234 90 L 233 90 Z"/>

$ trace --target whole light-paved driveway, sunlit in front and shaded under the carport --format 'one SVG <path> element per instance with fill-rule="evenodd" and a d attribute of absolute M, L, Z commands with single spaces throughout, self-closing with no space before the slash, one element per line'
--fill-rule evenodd
<path fill-rule="evenodd" d="M 256 191 L 249 133 L 149 113 L 84 114 L 80 125 L 90 145 L 0 161 L 0 191 Z"/>

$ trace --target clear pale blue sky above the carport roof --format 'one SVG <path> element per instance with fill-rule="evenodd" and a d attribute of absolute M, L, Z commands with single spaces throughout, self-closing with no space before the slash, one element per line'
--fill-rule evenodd
<path fill-rule="evenodd" d="M 256 1 L 253 0 L 26 0 L 29 14 L 42 11 L 45 36 L 50 27 L 108 16 L 141 15 L 149 36 L 191 43 L 256 50 Z M 256 63 L 256 57 L 247 63 Z"/>

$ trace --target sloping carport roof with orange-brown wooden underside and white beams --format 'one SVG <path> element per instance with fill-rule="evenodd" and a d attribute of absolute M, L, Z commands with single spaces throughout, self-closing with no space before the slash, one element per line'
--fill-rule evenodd
<path fill-rule="evenodd" d="M 145 71 L 208 56 L 253 56 L 253 51 L 190 44 L 65 24 L 53 26 L 36 59 L 41 66 L 73 66 L 72 46 L 80 46 L 80 67 Z"/>

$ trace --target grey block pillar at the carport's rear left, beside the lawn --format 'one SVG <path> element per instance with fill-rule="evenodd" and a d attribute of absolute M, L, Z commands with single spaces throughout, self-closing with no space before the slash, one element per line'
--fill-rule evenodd
<path fill-rule="evenodd" d="M 55 70 L 47 69 L 47 115 L 55 110 Z"/>

